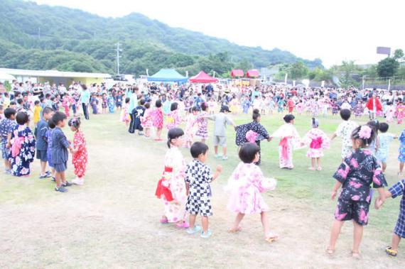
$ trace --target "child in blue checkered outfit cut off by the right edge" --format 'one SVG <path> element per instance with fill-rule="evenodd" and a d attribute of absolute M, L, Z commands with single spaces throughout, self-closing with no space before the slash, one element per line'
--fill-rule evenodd
<path fill-rule="evenodd" d="M 405 196 L 404 196 L 404 191 L 405 191 L 405 179 L 396 182 L 396 184 L 392 185 L 392 187 L 389 188 L 385 192 L 385 196 L 396 198 L 402 195 L 401 199 L 401 204 L 399 205 L 399 216 L 398 220 L 396 221 L 396 226 L 394 229 L 394 234 L 392 234 L 392 241 L 391 241 L 391 246 L 388 246 L 385 248 L 385 252 L 389 257 L 396 257 L 398 254 L 398 245 L 399 241 L 401 241 L 401 238 L 405 238 Z M 376 208 L 379 208 L 382 206 L 384 202 L 382 199 L 377 199 L 376 200 Z"/>

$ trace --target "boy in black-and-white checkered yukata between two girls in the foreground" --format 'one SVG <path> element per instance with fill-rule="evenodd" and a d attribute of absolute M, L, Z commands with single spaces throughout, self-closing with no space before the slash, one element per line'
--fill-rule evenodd
<path fill-rule="evenodd" d="M 190 153 L 194 160 L 187 165 L 185 170 L 185 187 L 188 195 L 185 210 L 190 213 L 190 227 L 187 233 L 201 232 L 202 238 L 209 238 L 212 234 L 212 231 L 208 229 L 208 216 L 212 216 L 210 182 L 220 175 L 222 166 L 217 165 L 217 170 L 212 175 L 211 169 L 204 164 L 208 155 L 208 146 L 205 143 L 193 143 Z M 200 226 L 195 226 L 198 214 L 202 218 L 202 229 Z"/>

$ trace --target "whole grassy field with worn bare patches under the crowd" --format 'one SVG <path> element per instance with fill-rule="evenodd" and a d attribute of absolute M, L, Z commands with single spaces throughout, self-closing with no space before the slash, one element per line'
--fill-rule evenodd
<path fill-rule="evenodd" d="M 237 124 L 247 123 L 247 115 L 230 115 Z M 158 224 L 161 201 L 153 197 L 163 169 L 165 143 L 131 135 L 118 114 L 91 115 L 83 123 L 89 164 L 85 185 L 70 192 L 53 191 L 50 180 L 39 180 L 39 165 L 33 163 L 31 177 L 1 175 L 0 180 L 0 258 L 1 268 L 401 268 L 405 253 L 392 260 L 385 257 L 399 212 L 399 199 L 389 199 L 380 211 L 371 209 L 362 243 L 362 260 L 352 260 L 352 225 L 347 224 L 334 257 L 324 254 L 333 222 L 335 201 L 330 200 L 333 172 L 340 165 L 340 138 L 325 150 L 323 170 L 310 171 L 306 149 L 294 151 L 294 170 L 278 166 L 279 141 L 263 142 L 261 170 L 275 177 L 278 187 L 264 194 L 271 207 L 272 228 L 280 241 L 269 245 L 262 240 L 259 216 L 242 222 L 244 232 L 237 236 L 226 230 L 233 215 L 225 209 L 223 186 L 239 162 L 234 131 L 227 130 L 229 160 L 218 163 L 224 172 L 212 184 L 214 235 L 208 241 L 190 238 L 174 227 Z M 263 116 L 262 124 L 272 133 L 283 123 L 280 114 Z M 365 123 L 366 118 L 355 119 Z M 301 136 L 311 128 L 311 117 L 298 116 Z M 320 128 L 330 136 L 340 118 L 320 117 Z M 403 126 L 393 124 L 390 132 L 399 134 Z M 212 123 L 209 126 L 212 131 Z M 65 128 L 68 138 L 72 132 Z M 209 138 L 208 146 L 212 148 Z M 397 149 L 391 146 L 386 172 L 389 185 L 397 182 Z M 183 155 L 190 160 L 187 149 Z M 72 178 L 72 165 L 68 178 Z M 254 263 L 252 263 L 252 261 Z"/>

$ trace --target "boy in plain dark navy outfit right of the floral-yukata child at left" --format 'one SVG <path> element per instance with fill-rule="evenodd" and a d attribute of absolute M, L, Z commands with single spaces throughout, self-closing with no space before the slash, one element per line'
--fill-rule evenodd
<path fill-rule="evenodd" d="M 43 119 L 38 121 L 35 129 L 36 136 L 36 158 L 41 161 L 41 175 L 39 178 L 43 179 L 50 177 L 50 172 L 46 171 L 46 163 L 48 162 L 48 140 L 46 132 L 48 131 L 48 120 L 53 116 L 53 109 L 45 106 L 43 109 Z"/>

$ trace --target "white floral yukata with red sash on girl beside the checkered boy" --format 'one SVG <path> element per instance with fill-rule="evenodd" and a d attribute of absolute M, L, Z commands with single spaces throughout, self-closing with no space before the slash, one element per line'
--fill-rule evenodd
<path fill-rule="evenodd" d="M 185 203 L 187 202 L 185 168 L 186 163 L 180 150 L 175 146 L 171 146 L 165 155 L 165 172 L 163 172 L 161 182 L 163 186 L 168 187 L 173 197 L 173 199 L 168 199 L 166 195 L 161 195 L 164 216 L 166 216 L 168 222 L 185 220 Z"/>

